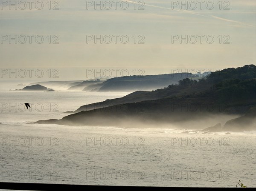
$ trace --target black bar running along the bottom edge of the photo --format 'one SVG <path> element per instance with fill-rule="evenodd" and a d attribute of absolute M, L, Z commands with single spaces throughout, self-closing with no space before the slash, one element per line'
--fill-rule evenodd
<path fill-rule="evenodd" d="M 56 190 L 70 190 L 80 191 L 85 189 L 111 189 L 121 191 L 123 188 L 130 189 L 145 189 L 145 188 L 157 188 L 163 190 L 169 190 L 171 188 L 184 190 L 184 187 L 151 187 L 151 186 L 107 186 L 107 185 L 71 185 L 71 184 L 38 184 L 38 183 L 17 183 L 17 182 L 0 182 L 0 189 L 6 190 L 32 190 L 32 191 L 56 191 Z M 188 188 L 190 191 L 193 187 Z M 205 188 L 195 188 L 205 189 Z M 207 188 L 209 189 L 209 188 Z M 213 188 L 214 189 L 214 188 Z M 232 189 L 232 188 L 224 188 Z"/>

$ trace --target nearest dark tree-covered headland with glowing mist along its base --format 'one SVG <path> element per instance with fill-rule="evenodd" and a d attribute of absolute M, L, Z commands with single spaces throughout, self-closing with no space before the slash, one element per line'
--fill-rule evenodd
<path fill-rule="evenodd" d="M 96 109 L 85 108 L 89 111 L 71 114 L 61 120 L 36 123 L 114 126 L 163 123 L 188 125 L 213 119 L 219 123 L 218 119 L 221 115 L 236 114 L 242 117 L 246 114 L 241 119 L 227 122 L 224 129 L 255 130 L 256 119 L 252 114 L 256 108 L 255 89 L 256 66 L 246 65 L 212 72 L 198 81 L 185 78 L 179 80 L 177 85 L 171 84 L 166 88 L 137 91 L 122 98 L 106 100 L 105 107 L 95 103 L 98 107 Z M 245 128 L 241 122 L 248 119 L 252 123 L 244 123 L 249 125 Z M 233 128 L 234 124 L 236 127 Z"/>

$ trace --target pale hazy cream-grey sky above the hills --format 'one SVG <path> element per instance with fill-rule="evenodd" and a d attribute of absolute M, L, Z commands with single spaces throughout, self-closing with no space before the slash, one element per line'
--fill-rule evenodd
<path fill-rule="evenodd" d="M 175 68 L 183 71 L 186 68 L 216 70 L 256 63 L 255 0 L 221 3 L 214 0 L 212 10 L 211 2 L 200 4 L 198 0 L 187 1 L 187 10 L 186 6 L 180 8 L 180 1 L 171 0 L 137 0 L 136 10 L 134 0 L 127 1 L 129 7 L 126 10 L 126 3 L 122 3 L 121 7 L 122 1 L 117 2 L 115 10 L 112 0 L 109 1 L 112 5 L 109 10 L 109 3 L 103 4 L 102 10 L 99 6 L 95 10 L 94 6 L 89 6 L 95 1 L 86 0 L 52 1 L 51 10 L 48 0 L 43 1 L 41 10 L 38 10 L 40 2 L 37 7 L 32 3 L 31 10 L 27 1 L 24 1 L 24 10 L 21 10 L 23 2 L 17 1 L 17 10 L 6 2 L 9 3 L 1 0 L 1 68 L 42 68 L 44 71 L 57 68 L 59 79 L 73 80 L 85 79 L 86 69 L 95 68 L 98 71 L 100 68 L 127 69 L 132 75 L 133 69 L 143 69 L 144 74 L 164 74 L 171 73 Z M 145 5 L 141 6 L 143 2 Z M 52 10 L 54 6 L 58 10 Z M 140 6 L 144 10 L 138 10 Z M 15 38 L 15 35 L 17 44 L 15 40 L 11 43 L 9 39 L 5 40 L 6 37 Z M 22 44 L 24 38 L 20 35 L 26 36 L 26 43 Z M 27 35 L 34 35 L 31 44 Z M 37 35 L 44 37 L 41 44 L 35 42 Z M 53 44 L 53 40 L 57 39 L 54 35 L 58 36 L 58 44 Z M 95 44 L 94 40 L 90 40 L 87 43 L 87 35 L 110 35 L 112 42 L 107 44 L 103 41 L 100 44 L 98 40 Z M 116 43 L 112 35 L 119 35 Z M 128 36 L 128 43 L 121 42 L 122 35 Z M 134 35 L 137 39 L 135 44 Z M 187 44 L 186 40 L 181 43 L 175 40 L 180 35 L 183 38 L 188 35 Z M 198 35 L 204 35 L 201 36 L 202 43 Z M 212 36 L 207 41 L 208 35 Z M 193 44 L 195 36 L 197 42 Z M 37 40 L 41 41 L 40 36 Z M 126 38 L 123 40 L 125 42 Z M 144 44 L 139 44 L 139 40 Z M 109 41 L 109 36 L 105 37 L 105 41 Z"/>

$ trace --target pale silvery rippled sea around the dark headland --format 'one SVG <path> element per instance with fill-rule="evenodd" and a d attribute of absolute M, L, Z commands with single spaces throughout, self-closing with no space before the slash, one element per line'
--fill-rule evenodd
<path fill-rule="evenodd" d="M 1 91 L 0 180 L 177 187 L 241 180 L 256 187 L 255 131 L 28 124 L 128 93 Z M 23 103 L 33 104 L 27 110 Z"/>

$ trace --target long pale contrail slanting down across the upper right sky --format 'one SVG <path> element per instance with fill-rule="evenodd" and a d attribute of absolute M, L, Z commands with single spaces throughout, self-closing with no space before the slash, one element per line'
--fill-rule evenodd
<path fill-rule="evenodd" d="M 131 0 L 126 0 L 130 3 L 134 3 L 133 1 Z M 136 4 L 139 4 L 137 2 L 135 2 Z M 195 14 L 195 15 L 198 15 L 198 16 L 201 16 L 201 17 L 208 17 L 208 18 L 215 18 L 215 19 L 218 19 L 218 20 L 224 20 L 224 21 L 227 21 L 227 22 L 232 22 L 232 23 L 238 23 L 238 24 L 241 24 L 241 25 L 245 25 L 245 26 L 250 26 L 250 27 L 255 27 L 253 25 L 249 25 L 247 23 L 242 23 L 242 22 L 239 22 L 239 21 L 236 21 L 236 20 L 229 20 L 229 19 L 225 19 L 225 18 L 221 18 L 221 17 L 216 17 L 214 15 L 211 15 L 210 17 L 207 16 L 207 15 L 203 15 L 203 14 L 198 14 L 194 11 L 187 11 L 187 10 L 181 10 L 181 9 L 171 9 L 171 8 L 168 8 L 168 7 L 162 7 L 162 6 L 154 6 L 154 5 L 148 5 L 148 4 L 144 4 L 145 6 L 149 6 L 149 7 L 157 7 L 157 8 L 160 8 L 160 9 L 168 9 L 168 10 L 173 10 L 173 11 L 179 11 L 179 12 L 183 12 L 183 13 L 189 13 L 189 14 Z"/>

